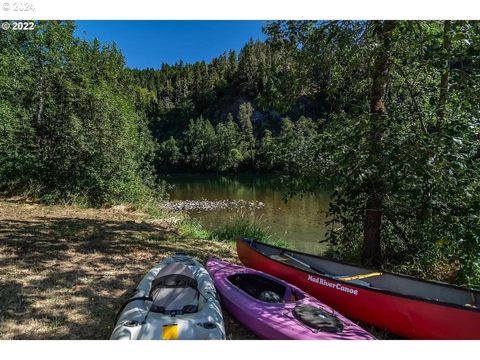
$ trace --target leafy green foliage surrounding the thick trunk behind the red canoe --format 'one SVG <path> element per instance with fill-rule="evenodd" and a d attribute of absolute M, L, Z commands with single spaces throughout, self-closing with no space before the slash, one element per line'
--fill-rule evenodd
<path fill-rule="evenodd" d="M 334 182 L 329 240 L 336 256 L 359 259 L 373 210 L 381 250 L 374 260 L 478 286 L 480 24 L 396 22 L 388 48 L 379 26 L 268 26 L 273 44 L 324 71 L 306 74 L 305 83 L 326 88 L 333 105 L 321 130 L 297 147 L 291 189 Z M 379 59 L 388 61 L 380 121 L 372 110 Z M 380 199 L 374 209 L 372 191 Z"/>

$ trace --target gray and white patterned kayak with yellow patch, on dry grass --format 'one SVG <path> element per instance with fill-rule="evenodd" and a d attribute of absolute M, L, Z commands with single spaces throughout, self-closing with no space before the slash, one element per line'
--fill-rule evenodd
<path fill-rule="evenodd" d="M 120 309 L 110 339 L 225 339 L 222 310 L 207 270 L 183 254 L 161 261 Z"/>

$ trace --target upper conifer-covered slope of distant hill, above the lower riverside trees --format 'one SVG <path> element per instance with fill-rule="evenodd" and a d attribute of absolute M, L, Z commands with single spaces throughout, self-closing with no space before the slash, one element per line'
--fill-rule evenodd
<path fill-rule="evenodd" d="M 325 103 L 299 82 L 298 66 L 284 50 L 249 41 L 237 54 L 224 52 L 210 63 L 162 64 L 159 70 L 131 70 L 146 90 L 147 116 L 157 140 L 180 137 L 190 119 L 202 116 L 213 124 L 237 116 L 241 104 L 254 108 L 255 132 L 277 132 L 281 117 L 318 118 Z"/>

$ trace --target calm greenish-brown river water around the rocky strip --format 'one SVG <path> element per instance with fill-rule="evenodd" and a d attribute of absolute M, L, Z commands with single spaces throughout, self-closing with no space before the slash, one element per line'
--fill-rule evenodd
<path fill-rule="evenodd" d="M 167 177 L 174 185 L 171 200 L 254 200 L 265 206 L 261 209 L 222 209 L 189 211 L 205 227 L 231 221 L 234 217 L 248 217 L 267 227 L 277 238 L 289 241 L 293 247 L 308 253 L 321 253 L 325 244 L 325 211 L 329 192 L 290 198 L 276 189 L 274 177 L 241 176 L 174 176 Z"/>

